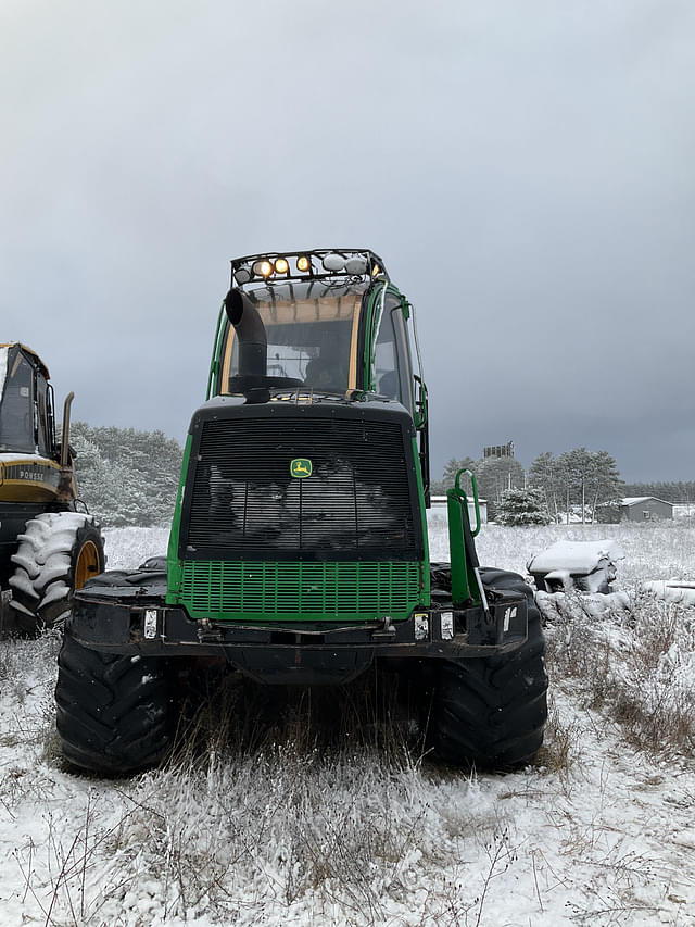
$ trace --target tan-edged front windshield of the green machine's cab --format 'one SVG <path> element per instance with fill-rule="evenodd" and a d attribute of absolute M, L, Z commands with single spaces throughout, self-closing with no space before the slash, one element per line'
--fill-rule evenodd
<path fill-rule="evenodd" d="M 278 387 L 355 389 L 359 312 L 367 287 L 301 283 L 249 292 L 267 336 L 267 376 Z M 236 391 L 238 375 L 239 343 L 230 326 L 223 349 L 223 391 Z"/>

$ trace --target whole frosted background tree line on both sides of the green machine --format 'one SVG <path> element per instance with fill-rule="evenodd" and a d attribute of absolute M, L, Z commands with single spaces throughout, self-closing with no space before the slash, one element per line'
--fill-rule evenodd
<path fill-rule="evenodd" d="M 182 456 L 178 441 L 159 430 L 75 422 L 71 443 L 77 455 L 79 498 L 102 524 L 150 527 L 170 523 Z M 570 511 L 589 522 L 617 522 L 626 496 L 655 496 L 667 502 L 695 500 L 695 481 L 626 484 L 607 451 L 586 448 L 558 455 L 545 451 L 528 473 L 511 456 L 453 458 L 442 479 L 432 484 L 432 493 L 443 494 L 463 468 L 476 474 L 489 516 L 506 524 L 560 522 Z"/>

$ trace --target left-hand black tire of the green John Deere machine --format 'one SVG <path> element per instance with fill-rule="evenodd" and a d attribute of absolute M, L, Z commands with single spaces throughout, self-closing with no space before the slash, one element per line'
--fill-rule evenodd
<path fill-rule="evenodd" d="M 100 653 L 66 634 L 55 702 L 63 756 L 73 766 L 123 776 L 167 752 L 170 702 L 161 660 Z"/>

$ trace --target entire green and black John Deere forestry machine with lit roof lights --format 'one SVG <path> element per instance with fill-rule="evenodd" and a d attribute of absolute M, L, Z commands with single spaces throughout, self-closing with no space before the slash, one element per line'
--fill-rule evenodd
<path fill-rule="evenodd" d="M 430 563 L 427 419 L 413 306 L 378 255 L 232 261 L 166 561 L 75 596 L 55 693 L 66 760 L 106 775 L 159 762 L 181 666 L 220 656 L 270 686 L 409 668 L 431 680 L 437 755 L 529 759 L 546 718 L 539 612 L 521 577 L 479 567 L 464 473 L 451 565 Z"/>

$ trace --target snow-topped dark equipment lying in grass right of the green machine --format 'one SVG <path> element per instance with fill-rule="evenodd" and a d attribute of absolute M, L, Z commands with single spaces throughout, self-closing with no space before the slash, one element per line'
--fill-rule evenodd
<path fill-rule="evenodd" d="M 542 592 L 612 592 L 617 562 L 624 556 L 612 540 L 557 541 L 531 558 L 527 565 Z"/>

